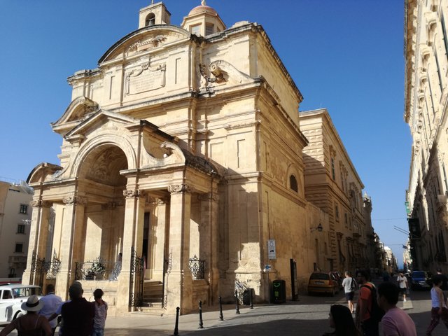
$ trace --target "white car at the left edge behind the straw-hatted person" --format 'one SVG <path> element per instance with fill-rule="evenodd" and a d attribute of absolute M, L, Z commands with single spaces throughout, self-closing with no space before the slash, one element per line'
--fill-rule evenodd
<path fill-rule="evenodd" d="M 41 288 L 18 283 L 1 285 L 0 324 L 8 324 L 22 315 L 22 302 L 27 302 L 28 297 L 31 295 L 41 295 Z"/>

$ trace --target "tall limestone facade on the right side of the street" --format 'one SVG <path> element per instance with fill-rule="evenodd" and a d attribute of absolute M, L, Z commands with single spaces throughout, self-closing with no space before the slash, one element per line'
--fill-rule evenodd
<path fill-rule="evenodd" d="M 405 122 L 412 134 L 408 204 L 414 269 L 446 273 L 448 1 L 407 0 Z"/>

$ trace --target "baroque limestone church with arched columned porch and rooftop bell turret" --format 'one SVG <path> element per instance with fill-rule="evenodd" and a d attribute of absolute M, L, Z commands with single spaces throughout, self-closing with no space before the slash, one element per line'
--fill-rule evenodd
<path fill-rule="evenodd" d="M 202 1 L 176 26 L 152 3 L 98 64 L 69 77 L 59 165 L 29 175 L 24 283 L 186 314 L 247 288 L 266 302 L 274 279 L 294 298 L 324 244 L 318 267 L 344 267 L 305 200 L 302 94 L 260 25 L 226 27 Z"/>

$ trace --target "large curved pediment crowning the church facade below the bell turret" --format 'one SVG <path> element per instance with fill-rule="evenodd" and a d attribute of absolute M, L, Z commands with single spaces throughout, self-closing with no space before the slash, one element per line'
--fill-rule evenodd
<path fill-rule="evenodd" d="M 153 25 L 128 34 L 107 50 L 98 63 L 138 55 L 139 52 L 160 48 L 179 40 L 189 39 L 190 33 L 174 25 Z"/>

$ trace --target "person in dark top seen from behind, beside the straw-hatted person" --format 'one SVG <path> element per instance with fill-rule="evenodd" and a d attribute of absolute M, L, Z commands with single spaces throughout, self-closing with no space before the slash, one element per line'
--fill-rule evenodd
<path fill-rule="evenodd" d="M 61 309 L 64 336 L 90 336 L 95 316 L 93 302 L 85 300 L 79 285 L 71 285 L 69 295 L 71 301 L 64 303 Z"/>

